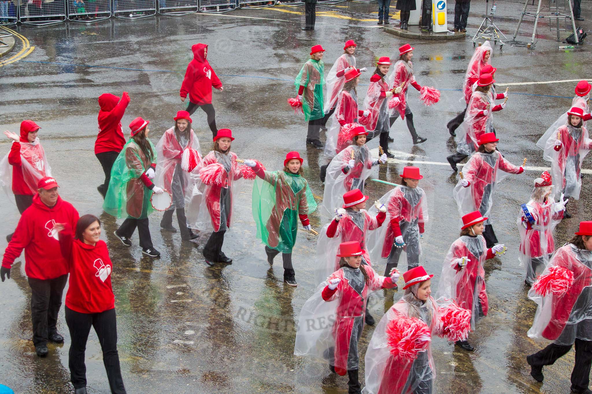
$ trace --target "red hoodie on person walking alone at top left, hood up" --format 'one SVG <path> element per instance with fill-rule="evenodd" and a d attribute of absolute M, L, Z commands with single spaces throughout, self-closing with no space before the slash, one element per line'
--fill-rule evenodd
<path fill-rule="evenodd" d="M 191 47 L 193 60 L 189 62 L 185 79 L 181 84 L 181 98 L 184 99 L 189 94 L 189 101 L 198 105 L 211 104 L 212 86 L 216 89 L 222 87 L 210 63 L 205 60 L 204 49 L 207 47 L 206 44 L 195 44 Z"/>

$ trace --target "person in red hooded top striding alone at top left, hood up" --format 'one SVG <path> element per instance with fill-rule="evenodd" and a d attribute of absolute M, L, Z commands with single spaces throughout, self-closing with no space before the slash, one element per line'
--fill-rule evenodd
<path fill-rule="evenodd" d="M 212 105 L 212 86 L 222 91 L 222 82 L 206 60 L 208 57 L 208 45 L 195 44 L 191 47 L 193 51 L 193 60 L 191 60 L 185 71 L 185 78 L 181 84 L 181 101 L 185 102 L 189 95 L 189 105 L 187 112 L 189 116 L 193 115 L 196 109 L 201 108 L 208 116 L 208 126 L 215 137 L 218 133 L 216 128 L 216 113 Z"/>

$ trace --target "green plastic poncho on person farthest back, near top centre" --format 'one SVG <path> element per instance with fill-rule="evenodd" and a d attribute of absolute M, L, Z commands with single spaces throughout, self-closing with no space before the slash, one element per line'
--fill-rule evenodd
<path fill-rule="evenodd" d="M 305 121 L 314 121 L 325 116 L 323 110 L 323 86 L 325 84 L 325 64 L 322 60 L 307 60 L 298 73 L 294 86 L 296 93 L 304 86 L 302 110 Z"/>

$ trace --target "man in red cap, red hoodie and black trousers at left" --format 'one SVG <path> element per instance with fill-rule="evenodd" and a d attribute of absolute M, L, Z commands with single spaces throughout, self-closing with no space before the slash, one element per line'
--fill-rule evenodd
<path fill-rule="evenodd" d="M 40 357 L 47 355 L 47 341 L 62 343 L 57 333 L 57 313 L 62 306 L 62 292 L 68 278 L 66 260 L 59 253 L 60 243 L 56 223 L 67 223 L 76 228 L 78 211 L 57 193 L 52 177 L 41 178 L 33 204 L 18 222 L 17 229 L 4 251 L 0 278 L 10 279 L 12 263 L 25 249 L 25 273 L 31 286 L 31 317 L 33 344 Z"/>

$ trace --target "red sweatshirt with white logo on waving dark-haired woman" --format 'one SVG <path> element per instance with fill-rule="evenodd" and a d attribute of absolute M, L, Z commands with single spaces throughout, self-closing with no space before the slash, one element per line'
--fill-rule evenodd
<path fill-rule="evenodd" d="M 60 232 L 60 249 L 66 259 L 70 281 L 66 307 L 80 313 L 100 313 L 115 308 L 111 288 L 112 263 L 104 241 L 95 246 L 73 239 L 72 229 Z"/>

